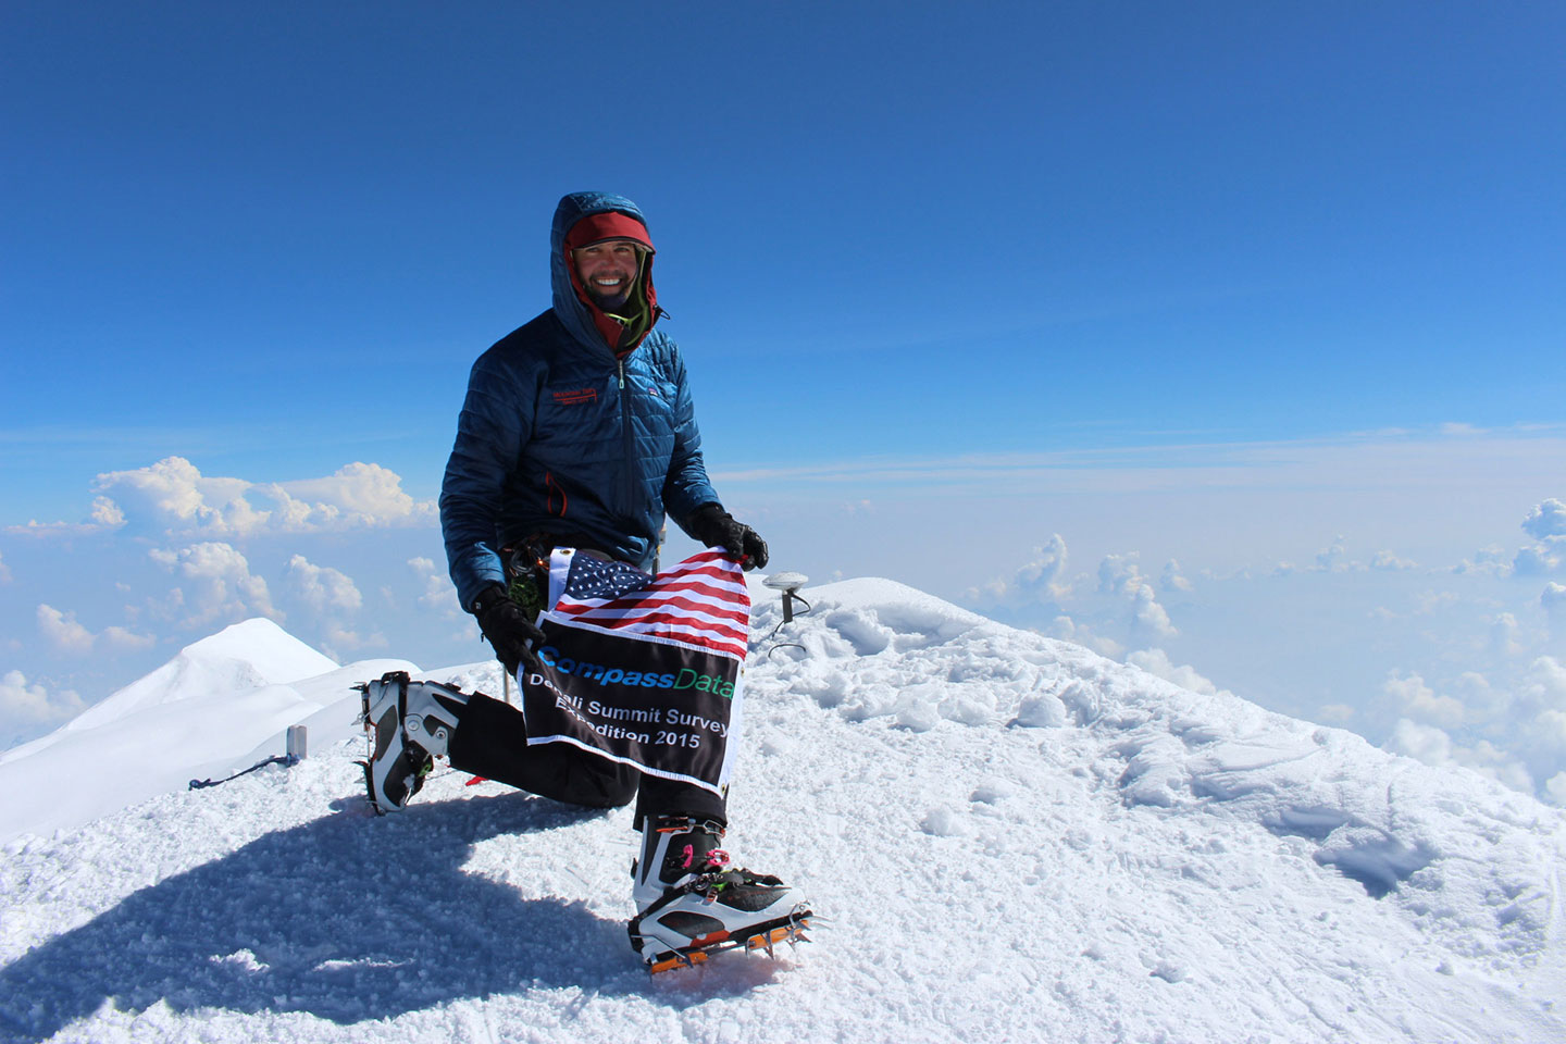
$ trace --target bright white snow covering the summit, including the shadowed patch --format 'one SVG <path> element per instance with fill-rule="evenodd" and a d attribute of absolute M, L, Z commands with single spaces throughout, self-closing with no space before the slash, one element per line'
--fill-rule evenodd
<path fill-rule="evenodd" d="M 755 589 L 728 841 L 814 944 L 648 978 L 628 811 L 440 772 L 373 817 L 349 686 L 417 668 L 251 621 L 0 761 L 0 1039 L 1566 1039 L 1560 809 L 889 581 L 805 595 L 774 634 Z M 183 789 L 296 722 L 304 762 Z"/>

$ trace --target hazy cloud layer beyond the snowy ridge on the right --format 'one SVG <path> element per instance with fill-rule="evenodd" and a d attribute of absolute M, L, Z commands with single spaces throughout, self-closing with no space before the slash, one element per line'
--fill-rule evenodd
<path fill-rule="evenodd" d="M 1170 560 L 1156 582 L 1134 551 L 1073 573 L 1055 534 L 966 598 L 1196 692 L 1217 686 L 1170 650 L 1198 646 L 1196 662 L 1220 675 L 1261 661 L 1273 692 L 1242 687 L 1247 698 L 1566 803 L 1566 585 L 1538 585 L 1566 557 L 1566 502 L 1536 504 L 1521 534 L 1513 551 L 1430 567 L 1391 548 L 1356 554 L 1337 535 L 1304 567 L 1257 562 L 1192 581 Z M 1366 592 L 1378 603 L 1366 606 Z M 1353 687 L 1377 661 L 1380 681 Z M 1334 671 L 1350 684 L 1326 682 Z"/>

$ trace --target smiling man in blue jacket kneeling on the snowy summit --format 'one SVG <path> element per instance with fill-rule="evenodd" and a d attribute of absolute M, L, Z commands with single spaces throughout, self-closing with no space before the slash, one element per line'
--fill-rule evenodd
<path fill-rule="evenodd" d="M 744 568 L 767 545 L 723 510 L 677 344 L 655 330 L 653 241 L 623 196 L 573 193 L 550 235 L 551 308 L 473 365 L 440 491 L 451 579 L 507 675 L 537 656 L 554 548 L 655 570 L 664 518 Z M 540 646 L 542 648 L 542 646 Z M 565 743 L 528 745 L 517 707 L 432 682 L 366 698 L 382 812 L 418 792 L 432 756 L 559 801 L 637 800 L 631 944 L 655 966 L 689 961 L 702 939 L 750 939 L 799 922 L 778 878 L 728 866 L 727 789 L 703 789 Z M 669 927 L 678 927 L 672 931 Z"/>

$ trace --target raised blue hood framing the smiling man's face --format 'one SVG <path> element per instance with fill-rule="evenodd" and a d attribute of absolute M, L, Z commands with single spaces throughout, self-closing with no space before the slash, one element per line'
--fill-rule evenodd
<path fill-rule="evenodd" d="M 642 258 L 642 271 L 633 299 L 645 307 L 640 322 L 626 327 L 619 319 L 606 315 L 587 297 L 576 280 L 575 266 L 570 263 L 567 239 L 572 229 L 583 219 L 598 214 L 614 214 L 631 219 L 595 222 L 601 232 L 612 233 L 614 238 L 633 238 L 647 246 Z M 640 235 L 637 235 L 637 229 Z M 589 236 L 581 246 L 604 235 Z M 647 219 L 640 208 L 625 196 L 612 193 L 570 193 L 561 199 L 554 208 L 554 222 L 550 227 L 550 286 L 554 291 L 554 313 L 570 330 L 572 337 L 586 346 L 604 346 L 614 354 L 625 354 L 642 343 L 642 338 L 658 322 L 658 294 L 653 291 L 653 243 L 647 233 Z"/>

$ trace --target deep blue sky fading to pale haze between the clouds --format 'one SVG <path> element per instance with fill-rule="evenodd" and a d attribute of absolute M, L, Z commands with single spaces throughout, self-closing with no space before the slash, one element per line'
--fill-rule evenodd
<path fill-rule="evenodd" d="M 417 506 L 468 365 L 547 304 L 554 200 L 604 188 L 648 213 L 709 466 L 785 563 L 958 598 L 1054 534 L 1088 578 L 1174 559 L 1162 637 L 1112 618 L 1135 584 L 988 609 L 1359 707 L 1377 742 L 1392 671 L 1532 612 L 1510 673 L 1442 668 L 1521 692 L 1566 653 L 1538 573 L 1306 681 L 1289 634 L 1232 621 L 1311 598 L 1234 578 L 1339 540 L 1427 570 L 1323 571 L 1312 598 L 1359 620 L 1550 538 L 1521 526 L 1566 496 L 1561 53 L 1553 3 L 9 3 L 0 673 L 91 701 L 257 610 L 232 573 L 175 612 L 218 568 L 197 545 L 307 640 L 471 651 L 417 617 L 429 590 L 393 598 L 443 567 Z M 362 462 L 415 507 L 218 526 L 149 499 L 171 457 L 338 507 L 390 488 L 321 491 Z M 97 637 L 52 645 L 39 606 Z"/>

